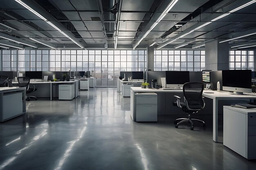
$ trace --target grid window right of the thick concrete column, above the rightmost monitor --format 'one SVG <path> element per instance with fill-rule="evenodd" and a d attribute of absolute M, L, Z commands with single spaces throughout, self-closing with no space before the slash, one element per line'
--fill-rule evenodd
<path fill-rule="evenodd" d="M 254 51 L 229 51 L 229 69 L 255 71 L 254 54 Z"/>

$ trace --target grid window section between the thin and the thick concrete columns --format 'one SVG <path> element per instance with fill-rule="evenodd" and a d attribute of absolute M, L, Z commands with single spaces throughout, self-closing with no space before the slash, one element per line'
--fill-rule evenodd
<path fill-rule="evenodd" d="M 202 71 L 205 51 L 155 50 L 155 71 Z"/>

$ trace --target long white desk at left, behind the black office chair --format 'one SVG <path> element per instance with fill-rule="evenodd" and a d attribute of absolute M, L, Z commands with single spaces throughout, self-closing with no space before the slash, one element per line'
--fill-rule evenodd
<path fill-rule="evenodd" d="M 30 82 L 30 84 L 45 84 L 45 85 L 48 85 L 49 87 L 50 87 L 50 98 L 51 98 L 51 100 L 52 100 L 52 98 L 53 98 L 53 86 L 58 86 L 59 84 L 72 84 L 72 83 L 74 83 L 75 84 L 75 86 L 74 86 L 74 92 L 75 92 L 75 97 L 77 97 L 78 96 L 78 93 L 79 93 L 79 91 L 78 91 L 78 80 L 70 80 L 70 81 L 65 81 L 65 82 L 63 82 L 63 81 L 59 81 L 59 82 Z M 15 85 L 15 84 L 18 84 L 18 82 L 13 82 L 13 84 Z M 40 89 L 38 89 L 38 91 L 40 91 Z"/>

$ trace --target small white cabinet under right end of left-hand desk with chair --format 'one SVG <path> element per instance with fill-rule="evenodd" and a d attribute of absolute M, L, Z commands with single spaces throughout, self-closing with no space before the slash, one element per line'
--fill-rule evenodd
<path fill-rule="evenodd" d="M 61 84 L 58 86 L 59 100 L 72 100 L 75 97 L 74 84 Z"/>

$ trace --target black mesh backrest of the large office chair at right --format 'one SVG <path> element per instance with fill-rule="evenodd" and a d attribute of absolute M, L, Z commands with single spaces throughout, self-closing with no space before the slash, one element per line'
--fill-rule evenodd
<path fill-rule="evenodd" d="M 190 109 L 200 110 L 204 107 L 203 90 L 204 84 L 201 82 L 188 82 L 183 85 L 185 103 Z"/>

